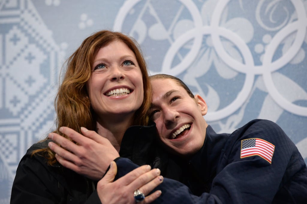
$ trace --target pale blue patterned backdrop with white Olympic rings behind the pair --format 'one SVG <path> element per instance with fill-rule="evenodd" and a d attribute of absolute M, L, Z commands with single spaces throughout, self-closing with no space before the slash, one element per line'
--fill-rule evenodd
<path fill-rule="evenodd" d="M 0 0 L 0 204 L 54 127 L 64 60 L 100 29 L 133 36 L 150 74 L 204 96 L 216 132 L 269 119 L 307 162 L 306 11 L 306 0 Z"/>

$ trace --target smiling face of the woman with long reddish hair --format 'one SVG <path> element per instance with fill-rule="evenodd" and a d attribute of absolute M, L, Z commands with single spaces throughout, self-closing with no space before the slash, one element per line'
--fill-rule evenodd
<path fill-rule="evenodd" d="M 100 48 L 87 91 L 100 119 L 132 117 L 143 102 L 143 79 L 134 52 L 120 40 Z M 130 118 L 129 118 L 130 119 Z"/>

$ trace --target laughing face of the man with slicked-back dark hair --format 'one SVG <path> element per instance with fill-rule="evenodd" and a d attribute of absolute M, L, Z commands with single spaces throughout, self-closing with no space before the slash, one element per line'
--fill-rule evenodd
<path fill-rule="evenodd" d="M 173 79 L 153 79 L 151 119 L 157 124 L 161 141 L 175 154 L 189 156 L 204 144 L 207 104 L 191 98 Z"/>

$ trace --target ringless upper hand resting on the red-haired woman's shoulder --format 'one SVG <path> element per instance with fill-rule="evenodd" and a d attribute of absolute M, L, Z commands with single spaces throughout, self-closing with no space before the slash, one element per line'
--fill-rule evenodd
<path fill-rule="evenodd" d="M 93 180 L 103 177 L 111 161 L 119 157 L 119 153 L 111 142 L 95 131 L 82 127 L 79 134 L 68 127 L 61 127 L 60 131 L 74 142 L 56 133 L 50 133 L 48 138 L 57 142 L 49 142 L 48 146 L 56 153 L 57 161 L 64 167 Z M 62 148 L 63 147 L 63 148 Z"/>

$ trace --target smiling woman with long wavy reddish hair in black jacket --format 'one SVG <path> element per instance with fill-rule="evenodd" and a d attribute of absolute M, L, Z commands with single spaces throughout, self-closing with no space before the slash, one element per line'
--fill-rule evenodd
<path fill-rule="evenodd" d="M 140 189 L 147 195 L 163 180 L 160 171 L 150 171 L 148 165 L 111 183 L 117 187 L 111 188 L 112 192 L 110 185 L 105 184 L 110 184 L 116 174 L 116 165 L 111 161 L 119 157 L 125 131 L 131 125 L 146 125 L 145 113 L 149 105 L 146 64 L 134 40 L 111 31 L 99 31 L 89 36 L 68 58 L 67 70 L 56 96 L 56 130 L 49 137 L 64 139 L 68 138 L 64 134 L 67 131 L 86 134 L 88 130 L 95 130 L 103 136 L 100 140 L 110 150 L 106 157 L 97 155 L 104 157 L 105 162 L 100 171 L 106 172 L 110 163 L 111 169 L 98 182 L 97 193 L 97 182 L 91 180 L 97 176 L 85 177 L 61 166 L 56 154 L 47 146 L 50 140 L 44 140 L 34 144 L 21 159 L 11 203 L 134 203 L 133 196 L 125 192 Z M 82 146 L 79 142 L 78 145 Z M 91 146 L 84 151 L 87 149 Z M 160 194 L 161 191 L 156 191 L 145 201 L 151 202 Z"/>

